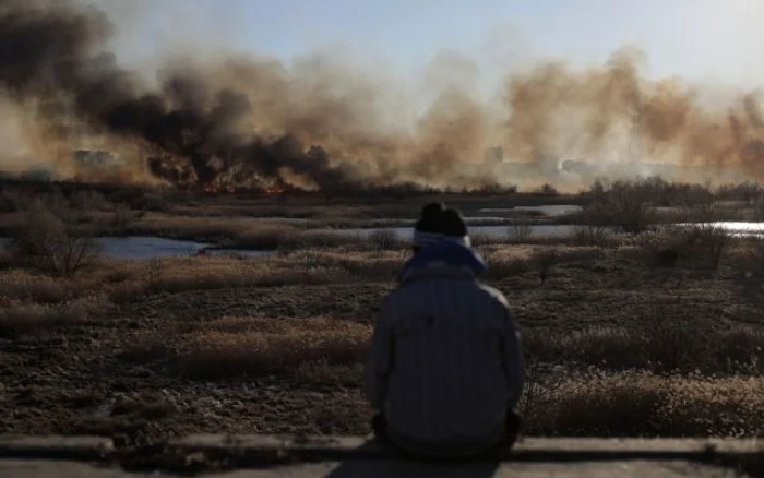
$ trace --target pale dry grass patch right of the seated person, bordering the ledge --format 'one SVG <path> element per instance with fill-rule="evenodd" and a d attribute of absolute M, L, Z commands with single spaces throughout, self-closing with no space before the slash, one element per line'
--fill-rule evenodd
<path fill-rule="evenodd" d="M 762 437 L 764 379 L 587 372 L 538 385 L 526 432 L 566 437 Z"/>

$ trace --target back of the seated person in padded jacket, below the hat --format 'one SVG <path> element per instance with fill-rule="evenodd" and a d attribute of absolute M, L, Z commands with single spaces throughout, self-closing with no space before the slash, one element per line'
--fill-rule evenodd
<path fill-rule="evenodd" d="M 407 264 L 380 310 L 367 370 L 389 438 L 428 455 L 471 455 L 499 442 L 522 387 L 506 300 L 477 282 L 485 266 L 461 229 L 466 236 L 462 224 Z"/>

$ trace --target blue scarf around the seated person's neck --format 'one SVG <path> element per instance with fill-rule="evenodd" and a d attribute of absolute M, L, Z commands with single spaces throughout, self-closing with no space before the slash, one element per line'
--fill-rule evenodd
<path fill-rule="evenodd" d="M 403 282 L 416 270 L 429 267 L 434 263 L 450 267 L 467 267 L 475 277 L 479 277 L 488 268 L 476 250 L 459 241 L 445 238 L 423 247 L 414 254 L 403 266 L 398 280 Z"/>

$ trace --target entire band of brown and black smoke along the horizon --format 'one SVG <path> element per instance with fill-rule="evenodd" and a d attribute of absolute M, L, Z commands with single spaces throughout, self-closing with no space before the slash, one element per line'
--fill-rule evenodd
<path fill-rule="evenodd" d="M 36 158 L 69 177 L 213 189 L 564 188 L 613 171 L 764 177 L 756 94 L 711 101 L 678 80 L 646 79 L 632 49 L 584 70 L 556 61 L 515 69 L 500 105 L 450 80 L 468 61 L 435 62 L 433 99 L 414 112 L 405 85 L 325 53 L 285 64 L 179 52 L 146 82 L 108 50 L 112 34 L 93 8 L 0 0 L 4 169 Z M 105 174 L 73 160 L 87 144 L 122 162 Z"/>

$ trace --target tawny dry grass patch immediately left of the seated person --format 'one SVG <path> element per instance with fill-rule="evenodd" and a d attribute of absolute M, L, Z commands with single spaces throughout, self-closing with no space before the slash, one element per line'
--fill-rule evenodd
<path fill-rule="evenodd" d="M 295 372 L 309 362 L 357 362 L 370 335 L 370 325 L 325 318 L 227 318 L 191 334 L 176 360 L 204 379 Z"/>

